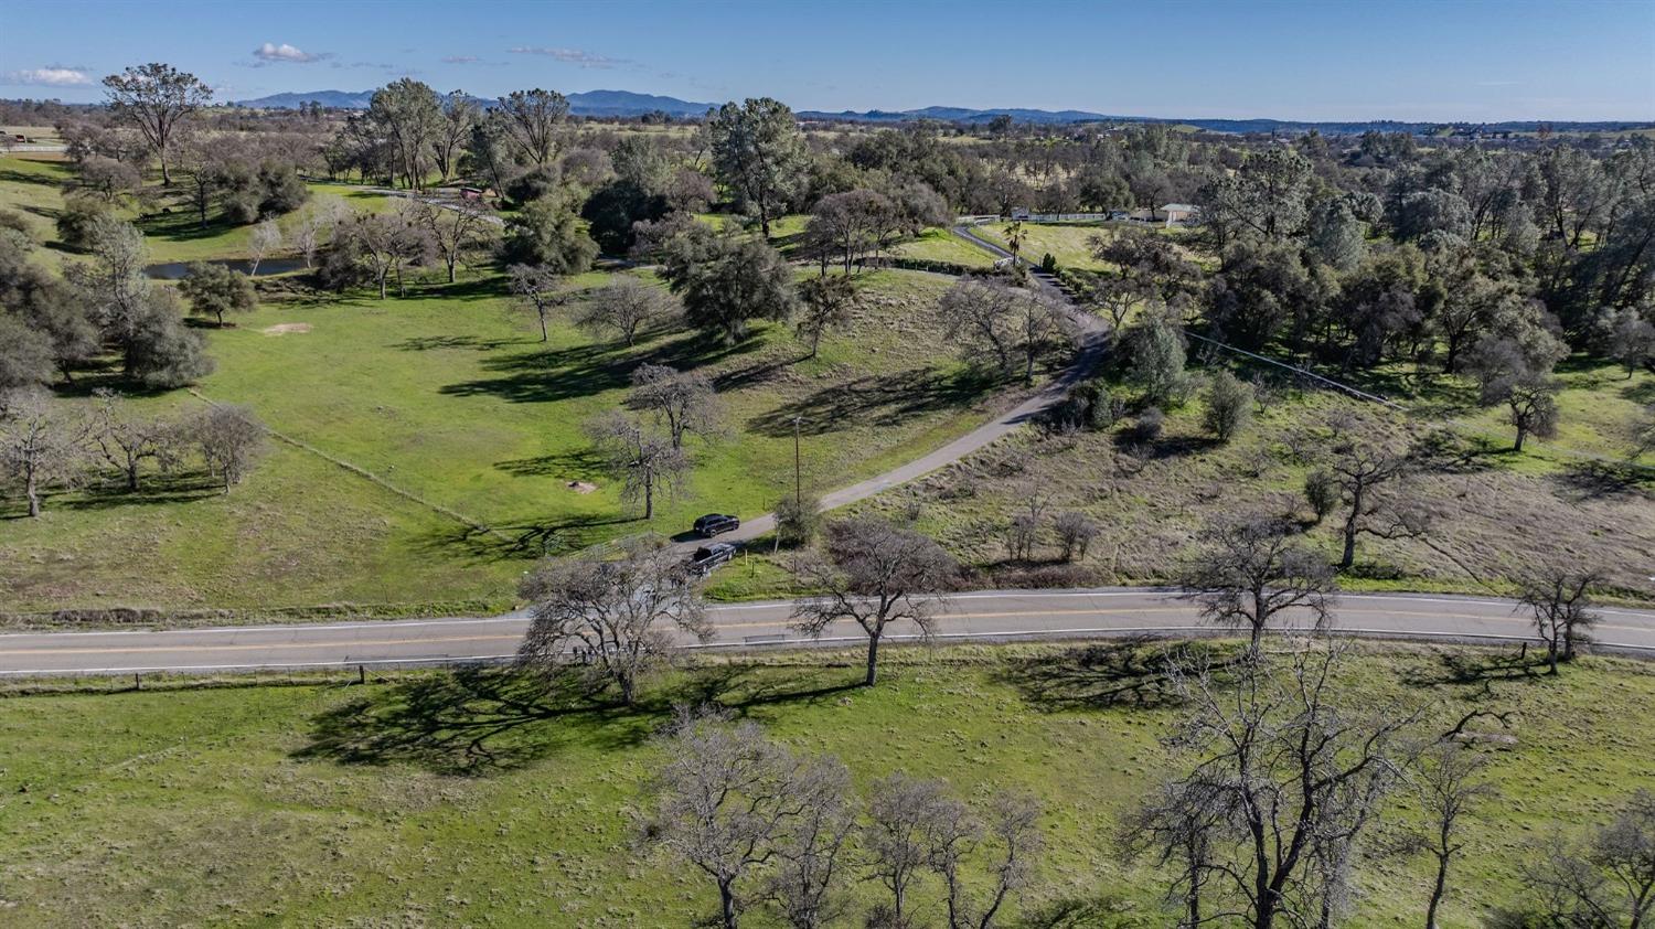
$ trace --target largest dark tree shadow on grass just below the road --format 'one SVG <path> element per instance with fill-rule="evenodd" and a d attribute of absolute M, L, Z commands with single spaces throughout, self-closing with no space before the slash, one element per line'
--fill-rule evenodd
<path fill-rule="evenodd" d="M 857 689 L 828 682 L 829 669 L 783 676 L 722 666 L 645 691 L 639 705 L 626 707 L 581 671 L 463 667 L 371 687 L 313 717 L 309 740 L 293 757 L 487 777 L 546 758 L 576 740 L 606 752 L 642 745 L 677 705 L 712 704 L 746 715 L 758 707 L 814 704 Z"/>

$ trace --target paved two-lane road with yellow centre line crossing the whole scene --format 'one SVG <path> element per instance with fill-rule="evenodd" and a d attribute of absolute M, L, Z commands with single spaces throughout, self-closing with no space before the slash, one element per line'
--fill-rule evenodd
<path fill-rule="evenodd" d="M 738 570 L 738 568 L 735 568 Z M 1173 593 L 1132 588 L 980 591 L 943 598 L 943 641 L 1016 641 L 1205 631 Z M 743 603 L 712 611 L 717 639 L 693 647 L 809 644 L 788 628 L 789 603 Z M 1655 611 L 1602 609 L 1602 647 L 1655 657 Z M 126 633 L 0 636 L 0 676 L 207 672 L 260 667 L 336 667 L 505 659 L 516 651 L 523 614 L 495 618 L 240 626 Z M 1433 594 L 1347 594 L 1342 633 L 1375 638 L 1528 641 L 1526 614 L 1503 599 Z M 912 639 L 912 628 L 894 629 Z M 821 639 L 857 644 L 842 623 Z M 685 646 L 692 646 L 684 639 Z"/>

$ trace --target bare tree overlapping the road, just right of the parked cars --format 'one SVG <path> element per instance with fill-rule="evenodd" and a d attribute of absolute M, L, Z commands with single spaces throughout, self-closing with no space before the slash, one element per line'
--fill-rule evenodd
<path fill-rule="evenodd" d="M 930 636 L 937 601 L 928 594 L 945 590 L 957 565 L 930 538 L 897 528 L 880 518 L 854 517 L 828 525 L 828 556 L 801 566 L 801 580 L 819 596 L 793 606 L 794 626 L 821 636 L 839 619 L 849 619 L 867 634 L 867 676 L 879 679 L 879 643 L 892 623 L 909 621 Z"/>

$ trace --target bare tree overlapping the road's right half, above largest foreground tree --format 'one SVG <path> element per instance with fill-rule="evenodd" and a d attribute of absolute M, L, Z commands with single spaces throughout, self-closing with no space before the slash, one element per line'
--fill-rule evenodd
<path fill-rule="evenodd" d="M 1202 618 L 1248 629 L 1256 652 L 1271 623 L 1283 613 L 1302 611 L 1316 629 L 1324 628 L 1334 606 L 1334 573 L 1302 548 L 1291 523 L 1245 515 L 1206 528 L 1205 545 L 1182 580 L 1185 598 L 1202 606 Z"/>

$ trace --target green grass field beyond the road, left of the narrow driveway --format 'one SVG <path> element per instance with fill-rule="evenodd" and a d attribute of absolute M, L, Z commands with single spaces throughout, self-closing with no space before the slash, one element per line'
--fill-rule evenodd
<path fill-rule="evenodd" d="M 867 275 L 854 325 L 814 361 L 781 326 L 736 349 L 682 330 L 626 349 L 558 323 L 541 344 L 496 286 L 472 278 L 407 300 L 268 300 L 235 328 L 204 330 L 218 369 L 199 387 L 488 532 L 278 442 L 227 497 L 200 479 L 162 480 L 136 497 L 63 493 L 40 520 L 8 520 L 7 604 L 501 604 L 543 553 L 649 528 L 672 535 L 707 510 L 768 510 L 791 487 L 794 416 L 806 480 L 834 487 L 975 426 L 996 387 L 940 354 L 935 298 L 947 278 L 937 275 Z M 581 432 L 621 404 L 645 359 L 712 376 L 733 429 L 697 447 L 692 484 L 652 527 L 621 503 Z M 199 404 L 184 392 L 142 402 Z"/>

